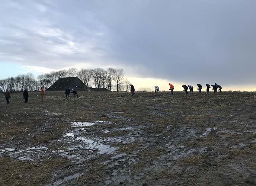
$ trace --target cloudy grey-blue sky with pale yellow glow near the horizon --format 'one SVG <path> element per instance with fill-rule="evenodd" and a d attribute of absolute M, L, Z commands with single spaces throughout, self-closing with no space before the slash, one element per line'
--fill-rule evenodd
<path fill-rule="evenodd" d="M 255 91 L 255 0 L 2 0 L 0 79 L 122 68 L 135 90 Z"/>

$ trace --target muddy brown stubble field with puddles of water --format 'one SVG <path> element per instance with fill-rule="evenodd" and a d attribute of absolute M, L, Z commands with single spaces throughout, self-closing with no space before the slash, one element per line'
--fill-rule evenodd
<path fill-rule="evenodd" d="M 0 97 L 1 186 L 256 185 L 256 94 Z"/>

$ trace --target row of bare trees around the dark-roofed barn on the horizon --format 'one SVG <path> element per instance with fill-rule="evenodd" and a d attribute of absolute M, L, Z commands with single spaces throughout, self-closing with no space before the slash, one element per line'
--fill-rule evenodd
<path fill-rule="evenodd" d="M 117 92 L 128 91 L 130 82 L 124 74 L 123 69 L 82 68 L 77 70 L 76 68 L 70 68 L 68 70 L 51 71 L 47 74 L 41 74 L 35 79 L 32 73 L 28 73 L 0 80 L 0 90 L 21 91 L 27 89 L 28 91 L 33 91 L 39 90 L 40 87 L 47 89 L 61 77 L 77 76 L 87 87 L 91 82 L 95 84 L 95 88 L 98 90 L 100 88 L 112 90 L 114 85 Z"/>

